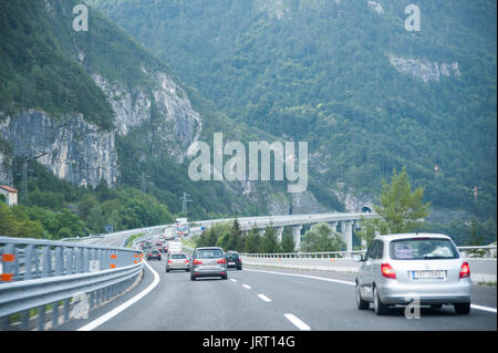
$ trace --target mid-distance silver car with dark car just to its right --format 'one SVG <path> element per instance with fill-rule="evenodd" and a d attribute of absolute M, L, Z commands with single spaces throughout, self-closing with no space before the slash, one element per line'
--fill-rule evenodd
<path fill-rule="evenodd" d="M 221 248 L 197 248 L 191 257 L 190 280 L 199 277 L 221 277 L 226 280 L 227 260 Z"/>

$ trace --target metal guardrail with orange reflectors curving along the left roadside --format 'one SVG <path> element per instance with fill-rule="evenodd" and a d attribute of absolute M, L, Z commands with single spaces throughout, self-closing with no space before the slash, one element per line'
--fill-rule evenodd
<path fill-rule="evenodd" d="M 135 281 L 142 256 L 124 248 L 0 237 L 0 329 L 30 330 L 31 309 L 38 309 L 38 330 L 46 328 L 48 305 L 51 326 L 77 316 L 75 309 L 94 309 Z M 20 314 L 14 326 L 13 314 Z"/>

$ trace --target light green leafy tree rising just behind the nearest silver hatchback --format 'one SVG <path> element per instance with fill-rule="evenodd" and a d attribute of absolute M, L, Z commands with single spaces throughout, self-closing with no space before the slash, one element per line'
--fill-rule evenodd
<path fill-rule="evenodd" d="M 370 243 L 375 233 L 411 232 L 422 226 L 422 219 L 429 215 L 430 203 L 423 204 L 424 187 L 412 191 L 406 168 L 393 172 L 391 184 L 382 179 L 381 205 L 374 205 L 380 218 L 363 219 L 359 232 L 361 239 Z"/>

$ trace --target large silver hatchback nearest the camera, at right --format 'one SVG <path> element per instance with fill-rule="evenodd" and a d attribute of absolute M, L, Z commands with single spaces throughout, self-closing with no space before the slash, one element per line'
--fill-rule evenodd
<path fill-rule="evenodd" d="M 444 235 L 377 236 L 356 276 L 357 309 L 373 302 L 377 315 L 388 305 L 418 300 L 439 309 L 453 304 L 457 314 L 470 312 L 470 268 L 452 239 Z"/>

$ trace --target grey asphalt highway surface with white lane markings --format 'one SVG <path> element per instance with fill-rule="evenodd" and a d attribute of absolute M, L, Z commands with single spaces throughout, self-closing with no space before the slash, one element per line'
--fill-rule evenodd
<path fill-rule="evenodd" d="M 228 280 L 190 281 L 188 272 L 166 273 L 163 261 L 152 260 L 133 290 L 95 309 L 89 319 L 72 320 L 56 330 L 497 330 L 496 287 L 474 287 L 469 315 L 456 315 L 453 307 L 445 305 L 440 310 L 423 308 L 421 319 L 408 320 L 403 308 L 394 308 L 385 316 L 375 315 L 373 309 L 357 310 L 353 281 L 353 273 L 256 266 L 230 269 Z"/>

